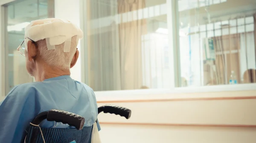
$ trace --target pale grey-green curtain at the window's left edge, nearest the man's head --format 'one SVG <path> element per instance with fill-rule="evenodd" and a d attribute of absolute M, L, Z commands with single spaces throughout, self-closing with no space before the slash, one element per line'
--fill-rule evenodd
<path fill-rule="evenodd" d="M 87 0 L 87 63 L 95 91 L 121 90 L 116 0 Z M 107 17 L 107 18 L 105 18 Z"/>

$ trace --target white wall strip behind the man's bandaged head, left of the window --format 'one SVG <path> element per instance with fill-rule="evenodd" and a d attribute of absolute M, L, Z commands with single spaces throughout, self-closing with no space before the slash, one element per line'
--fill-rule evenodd
<path fill-rule="evenodd" d="M 69 20 L 80 27 L 80 0 L 55 0 L 55 18 Z M 77 46 L 80 50 L 80 42 Z M 70 69 L 71 77 L 77 81 L 81 81 L 81 53 L 76 65 Z"/>

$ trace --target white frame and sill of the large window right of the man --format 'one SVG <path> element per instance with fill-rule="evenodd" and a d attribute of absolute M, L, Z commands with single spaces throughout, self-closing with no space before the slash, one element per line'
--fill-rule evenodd
<path fill-rule="evenodd" d="M 88 63 L 86 63 L 87 57 L 87 1 L 80 0 L 81 9 L 81 29 L 84 31 L 84 39 L 81 40 L 81 81 L 87 83 L 88 81 Z M 224 92 L 224 91 L 241 91 L 241 90 L 255 90 L 255 84 L 236 84 L 236 85 L 212 85 L 212 86 L 201 86 L 201 87 L 180 87 L 180 51 L 179 51 L 179 14 L 178 14 L 178 3 L 177 0 L 166 0 L 166 5 L 171 7 L 167 8 L 167 27 L 168 27 L 168 39 L 170 51 L 169 56 L 172 57 L 170 60 L 170 67 L 172 70 L 170 72 L 170 78 L 175 79 L 171 84 L 169 89 L 143 89 L 143 90 L 112 90 L 112 91 L 95 91 L 97 96 L 107 97 L 110 96 L 126 96 L 126 95 L 161 95 L 161 94 L 172 94 L 172 93 L 201 93 L 201 92 Z M 175 22 L 172 22 L 175 21 Z M 176 47 L 176 48 L 175 48 Z M 175 62 L 176 61 L 176 62 Z"/>

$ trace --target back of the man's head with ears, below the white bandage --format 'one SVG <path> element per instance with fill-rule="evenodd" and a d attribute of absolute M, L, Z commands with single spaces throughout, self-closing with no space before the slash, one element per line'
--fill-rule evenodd
<path fill-rule="evenodd" d="M 72 37 L 70 52 L 64 52 L 64 43 L 56 45 L 55 50 L 48 50 L 45 39 L 39 40 L 35 44 L 29 41 L 28 50 L 25 52 L 28 72 L 33 76 L 36 64 L 41 67 L 48 67 L 48 70 L 69 71 L 76 64 L 79 55 L 76 46 L 76 36 Z"/>

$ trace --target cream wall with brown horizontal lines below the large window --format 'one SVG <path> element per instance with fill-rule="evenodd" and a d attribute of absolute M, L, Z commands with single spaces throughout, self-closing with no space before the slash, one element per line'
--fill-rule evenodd
<path fill-rule="evenodd" d="M 256 91 L 137 96 L 116 101 L 96 92 L 99 106 L 132 110 L 129 120 L 99 115 L 102 143 L 256 143 Z"/>

